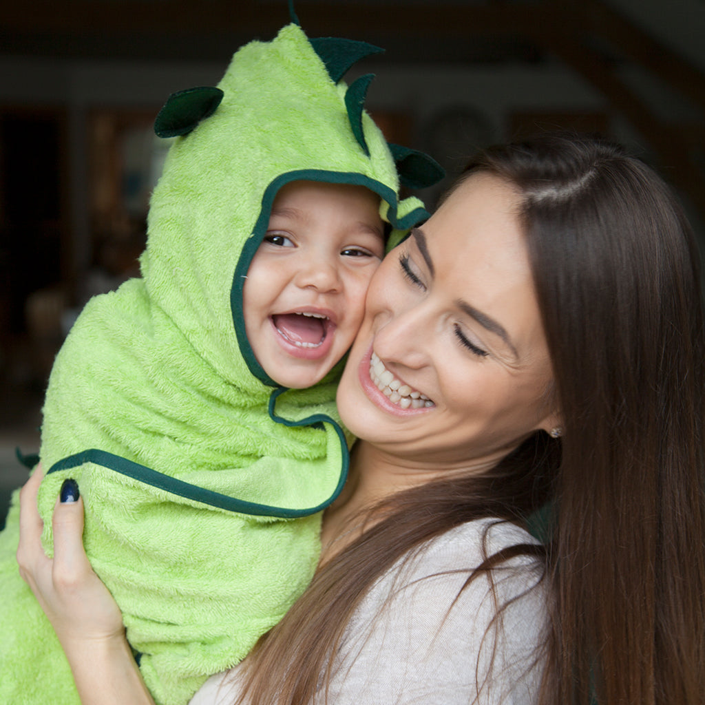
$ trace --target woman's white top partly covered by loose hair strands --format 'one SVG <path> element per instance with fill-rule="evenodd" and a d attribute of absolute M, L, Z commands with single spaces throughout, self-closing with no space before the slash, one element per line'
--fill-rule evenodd
<path fill-rule="evenodd" d="M 543 584 L 537 585 L 541 569 L 536 559 L 520 556 L 494 570 L 498 604 L 515 599 L 496 627 L 490 627 L 496 605 L 485 575 L 451 608 L 484 559 L 486 529 L 487 555 L 536 543 L 508 523 L 468 522 L 429 541 L 407 565 L 383 575 L 345 631 L 329 705 L 467 705 L 476 697 L 482 705 L 536 701 L 543 663 L 537 646 L 544 643 L 546 625 L 546 593 Z M 227 705 L 233 692 L 236 668 L 210 678 L 190 705 Z M 314 703 L 323 702 L 321 692 Z"/>

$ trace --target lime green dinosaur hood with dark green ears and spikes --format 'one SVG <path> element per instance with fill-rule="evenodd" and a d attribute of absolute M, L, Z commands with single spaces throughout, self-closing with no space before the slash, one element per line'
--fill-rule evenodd
<path fill-rule="evenodd" d="M 157 118 L 157 134 L 179 136 L 150 204 L 142 256 L 149 297 L 217 374 L 249 393 L 269 395 L 276 386 L 247 342 L 242 299 L 282 185 L 364 185 L 400 230 L 428 217 L 416 198 L 398 200 L 395 158 L 412 185 L 433 183 L 439 167 L 387 144 L 362 109 L 372 75 L 350 87 L 340 80 L 376 51 L 364 42 L 309 40 L 290 24 L 271 42 L 242 47 L 218 87 L 174 94 Z"/>

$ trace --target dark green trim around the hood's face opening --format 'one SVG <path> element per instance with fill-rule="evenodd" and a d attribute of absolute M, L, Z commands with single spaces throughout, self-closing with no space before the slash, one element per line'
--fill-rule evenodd
<path fill-rule="evenodd" d="M 230 290 L 230 307 L 233 316 L 233 326 L 235 326 L 235 335 L 238 337 L 238 345 L 243 359 L 250 368 L 250 372 L 259 379 L 263 384 L 270 387 L 278 387 L 278 382 L 264 372 L 262 366 L 257 362 L 255 353 L 252 352 L 250 341 L 247 340 L 245 333 L 245 317 L 243 315 L 243 287 L 245 286 L 245 278 L 247 278 L 247 270 L 250 269 L 252 257 L 255 257 L 257 247 L 262 243 L 266 228 L 269 225 L 269 214 L 272 204 L 279 189 L 283 185 L 291 181 L 321 181 L 323 183 L 348 183 L 351 185 L 360 185 L 373 191 L 389 205 L 388 219 L 394 228 L 399 230 L 407 230 L 416 223 L 425 221 L 429 218 L 429 213 L 424 208 L 415 208 L 412 212 L 405 215 L 403 218 L 397 217 L 398 200 L 396 192 L 383 183 L 376 181 L 369 176 L 364 176 L 355 171 L 326 171 L 325 169 L 300 169 L 298 171 L 288 171 L 280 174 L 267 186 L 262 196 L 262 209 L 259 211 L 259 218 L 255 223 L 255 228 L 252 234 L 245 241 L 243 251 L 240 252 L 240 259 L 235 266 L 233 274 L 233 286 Z"/>

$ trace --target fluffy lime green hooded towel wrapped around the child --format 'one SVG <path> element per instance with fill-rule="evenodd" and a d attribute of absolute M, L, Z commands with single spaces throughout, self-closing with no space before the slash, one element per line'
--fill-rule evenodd
<path fill-rule="evenodd" d="M 330 41 L 321 54 L 339 71 Z M 159 125 L 182 136 L 150 204 L 142 278 L 85 307 L 44 405 L 44 546 L 73 477 L 87 553 L 163 705 L 240 661 L 305 589 L 319 510 L 345 480 L 336 372 L 308 390 L 276 388 L 244 334 L 243 275 L 278 188 L 365 185 L 396 237 L 428 215 L 415 198 L 398 201 L 393 156 L 359 92 L 351 99 L 331 78 L 298 25 L 240 49 L 219 89 L 215 109 L 212 89 L 202 110 L 198 90 L 185 108 L 179 97 L 165 107 Z M 78 704 L 18 577 L 16 522 L 13 509 L 1 539 L 0 702 Z"/>

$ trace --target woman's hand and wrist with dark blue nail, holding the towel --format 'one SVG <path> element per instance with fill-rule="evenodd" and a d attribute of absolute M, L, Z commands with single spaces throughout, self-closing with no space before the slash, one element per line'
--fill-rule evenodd
<path fill-rule="evenodd" d="M 123 618 L 83 549 L 83 501 L 64 482 L 54 507 L 54 558 L 42 548 L 38 467 L 20 492 L 20 575 L 32 589 L 63 648 L 84 705 L 154 705 L 125 639 Z M 71 484 L 73 483 L 73 484 Z"/>

